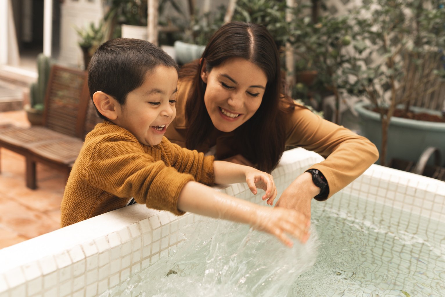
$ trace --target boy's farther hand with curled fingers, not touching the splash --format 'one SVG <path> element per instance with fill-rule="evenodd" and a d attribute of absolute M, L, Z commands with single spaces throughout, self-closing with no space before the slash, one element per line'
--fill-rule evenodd
<path fill-rule="evenodd" d="M 277 189 L 275 187 L 274 178 L 263 171 L 255 168 L 249 168 L 246 172 L 246 182 L 252 193 L 256 195 L 256 189 L 263 189 L 266 194 L 263 195 L 263 200 L 267 199 L 267 204 L 272 205 L 277 196 Z"/>

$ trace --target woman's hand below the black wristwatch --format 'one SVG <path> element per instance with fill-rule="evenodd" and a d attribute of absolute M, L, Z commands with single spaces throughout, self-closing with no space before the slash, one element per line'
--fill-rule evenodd
<path fill-rule="evenodd" d="M 312 198 L 319 193 L 320 188 L 314 185 L 311 173 L 305 172 L 284 190 L 275 207 L 295 209 L 310 219 Z"/>

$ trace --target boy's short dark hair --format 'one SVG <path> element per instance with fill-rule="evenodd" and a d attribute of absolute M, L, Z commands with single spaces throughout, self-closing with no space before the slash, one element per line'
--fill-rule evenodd
<path fill-rule="evenodd" d="M 139 88 L 147 72 L 160 65 L 178 70 L 172 57 L 148 41 L 134 38 L 108 40 L 97 48 L 89 62 L 89 94 L 93 98 L 95 92 L 102 91 L 124 105 L 128 93 Z M 100 112 L 97 114 L 105 119 Z"/>

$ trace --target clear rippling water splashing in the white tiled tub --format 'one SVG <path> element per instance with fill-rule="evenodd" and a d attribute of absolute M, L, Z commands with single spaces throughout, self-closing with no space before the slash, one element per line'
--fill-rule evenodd
<path fill-rule="evenodd" d="M 312 237 L 292 249 L 227 221 L 183 236 L 102 296 L 445 296 L 444 224 L 357 197 L 314 201 Z"/>

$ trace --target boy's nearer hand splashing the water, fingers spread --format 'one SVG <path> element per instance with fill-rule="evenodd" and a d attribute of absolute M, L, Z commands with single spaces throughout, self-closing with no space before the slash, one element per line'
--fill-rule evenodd
<path fill-rule="evenodd" d="M 254 224 L 251 226 L 254 229 L 275 235 L 289 247 L 292 247 L 293 242 L 286 234 L 290 234 L 302 243 L 306 243 L 309 238 L 310 221 L 295 209 L 260 206 L 253 221 Z"/>

